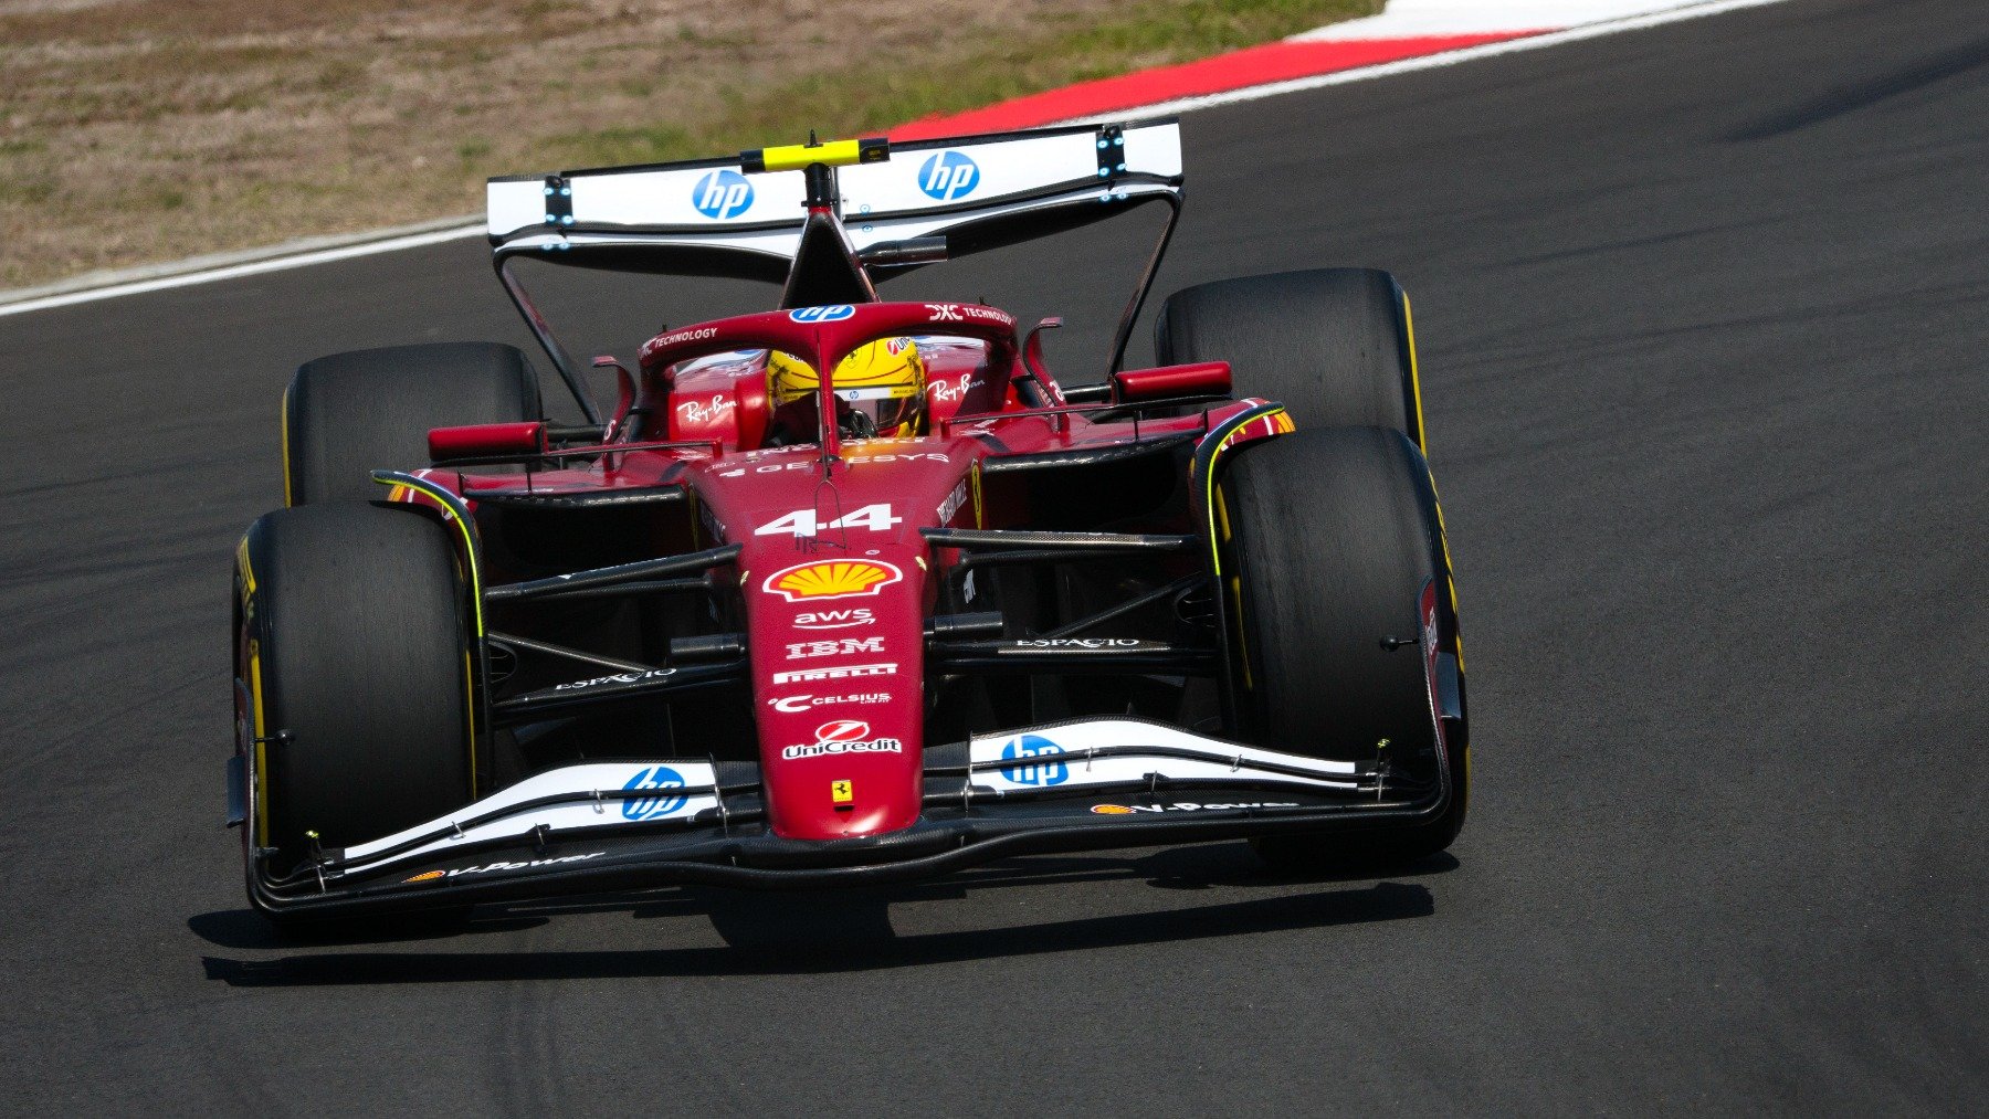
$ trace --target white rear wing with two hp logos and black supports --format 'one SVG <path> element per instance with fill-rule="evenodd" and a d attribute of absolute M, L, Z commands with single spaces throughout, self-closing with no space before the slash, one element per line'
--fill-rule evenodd
<path fill-rule="evenodd" d="M 579 370 L 509 260 L 782 282 L 802 250 L 806 175 L 748 171 L 742 155 L 489 181 L 497 274 L 589 419 L 599 415 Z M 841 233 L 875 280 L 1164 203 L 1168 225 L 1120 318 L 1110 374 L 1179 219 L 1181 129 L 1160 117 L 919 139 L 833 171 Z"/>

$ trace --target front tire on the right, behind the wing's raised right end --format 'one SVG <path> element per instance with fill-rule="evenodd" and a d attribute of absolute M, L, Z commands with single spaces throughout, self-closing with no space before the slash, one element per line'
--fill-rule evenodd
<path fill-rule="evenodd" d="M 1438 648 L 1456 652 L 1442 521 L 1422 453 L 1400 431 L 1301 429 L 1237 451 L 1223 475 L 1225 570 L 1239 606 L 1233 648 L 1249 739 L 1269 747 L 1434 773 L 1438 737 L 1414 644 L 1418 598 L 1436 582 Z M 1466 739 L 1450 727 L 1452 801 L 1414 827 L 1263 837 L 1287 871 L 1378 867 L 1434 855 L 1464 825 Z"/>

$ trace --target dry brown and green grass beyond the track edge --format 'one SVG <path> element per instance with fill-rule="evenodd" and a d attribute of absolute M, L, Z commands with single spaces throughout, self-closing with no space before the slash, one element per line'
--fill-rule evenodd
<path fill-rule="evenodd" d="M 875 129 L 1378 0 L 0 0 L 0 288 Z"/>

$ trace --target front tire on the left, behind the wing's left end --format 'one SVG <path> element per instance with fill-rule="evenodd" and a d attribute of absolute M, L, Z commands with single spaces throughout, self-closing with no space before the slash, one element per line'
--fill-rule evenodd
<path fill-rule="evenodd" d="M 237 582 L 237 672 L 259 692 L 271 871 L 473 799 L 467 640 L 455 555 L 416 509 L 312 505 L 259 519 Z"/>

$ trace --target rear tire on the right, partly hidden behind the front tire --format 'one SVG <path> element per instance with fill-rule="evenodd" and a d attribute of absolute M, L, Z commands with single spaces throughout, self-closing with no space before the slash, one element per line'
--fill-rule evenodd
<path fill-rule="evenodd" d="M 1408 296 L 1376 268 L 1311 268 L 1195 284 L 1154 322 L 1162 364 L 1229 362 L 1237 394 L 1301 427 L 1388 427 L 1422 447 Z"/>

